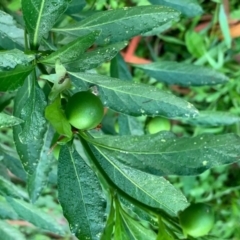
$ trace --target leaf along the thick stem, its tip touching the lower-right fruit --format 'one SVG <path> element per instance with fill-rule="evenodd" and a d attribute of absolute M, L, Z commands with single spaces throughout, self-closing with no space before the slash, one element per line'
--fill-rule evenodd
<path fill-rule="evenodd" d="M 97 147 L 93 152 L 111 180 L 131 197 L 173 216 L 187 207 L 183 194 L 165 178 L 128 167 L 117 160 L 113 161 L 112 152 L 108 151 L 107 155 L 102 148 Z"/>

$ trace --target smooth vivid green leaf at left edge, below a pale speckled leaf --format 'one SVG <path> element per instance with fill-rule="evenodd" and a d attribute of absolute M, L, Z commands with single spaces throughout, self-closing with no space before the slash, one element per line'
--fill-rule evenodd
<path fill-rule="evenodd" d="M 0 91 L 11 91 L 21 87 L 34 66 L 18 65 L 10 71 L 0 72 Z"/>

